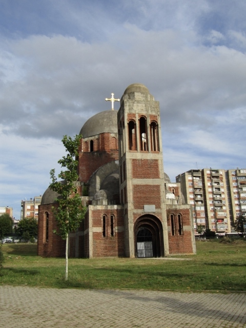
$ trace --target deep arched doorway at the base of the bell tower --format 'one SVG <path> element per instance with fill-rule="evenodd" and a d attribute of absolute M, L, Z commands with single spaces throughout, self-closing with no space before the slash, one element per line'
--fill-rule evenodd
<path fill-rule="evenodd" d="M 135 257 L 164 256 L 163 229 L 154 215 L 139 217 L 134 224 Z"/>

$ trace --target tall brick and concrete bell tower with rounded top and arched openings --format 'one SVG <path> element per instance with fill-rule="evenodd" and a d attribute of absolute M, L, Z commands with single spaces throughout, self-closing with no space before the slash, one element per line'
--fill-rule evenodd
<path fill-rule="evenodd" d="M 159 102 L 142 84 L 130 85 L 121 97 L 118 138 L 125 255 L 146 257 L 141 252 L 150 252 L 150 257 L 166 256 L 169 244 Z M 151 251 L 139 249 L 143 234 L 151 235 Z"/>

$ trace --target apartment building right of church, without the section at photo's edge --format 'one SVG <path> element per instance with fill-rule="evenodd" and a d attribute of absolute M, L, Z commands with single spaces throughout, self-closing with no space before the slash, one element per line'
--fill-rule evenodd
<path fill-rule="evenodd" d="M 176 176 L 185 201 L 193 207 L 194 229 L 202 226 L 217 233 L 231 232 L 226 171 L 190 170 Z"/>

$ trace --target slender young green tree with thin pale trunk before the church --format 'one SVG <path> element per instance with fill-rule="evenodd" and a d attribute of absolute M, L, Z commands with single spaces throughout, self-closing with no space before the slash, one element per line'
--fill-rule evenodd
<path fill-rule="evenodd" d="M 58 231 L 54 231 L 66 240 L 66 272 L 65 280 L 68 280 L 68 235 L 78 229 L 81 220 L 85 217 L 86 208 L 82 206 L 81 199 L 74 182 L 78 179 L 78 147 L 81 135 L 75 135 L 74 139 L 65 135 L 61 140 L 68 153 L 58 160 L 64 171 L 58 174 L 63 183 L 57 181 L 55 170 L 50 171 L 52 183 L 50 189 L 56 191 L 61 197 L 56 199 L 58 206 L 53 207 L 53 213 L 58 225 Z"/>

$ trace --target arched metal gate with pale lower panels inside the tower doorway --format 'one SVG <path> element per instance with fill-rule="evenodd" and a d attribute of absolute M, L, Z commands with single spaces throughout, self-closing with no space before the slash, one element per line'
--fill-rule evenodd
<path fill-rule="evenodd" d="M 152 233 L 147 228 L 137 232 L 137 257 L 153 257 Z"/>

